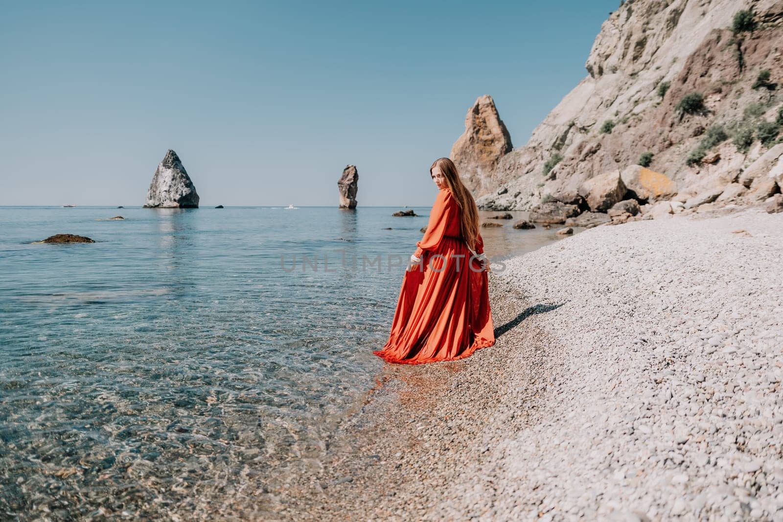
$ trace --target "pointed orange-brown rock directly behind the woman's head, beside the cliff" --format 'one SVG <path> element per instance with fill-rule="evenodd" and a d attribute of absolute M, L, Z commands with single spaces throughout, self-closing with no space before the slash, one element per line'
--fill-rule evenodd
<path fill-rule="evenodd" d="M 465 132 L 454 143 L 449 157 L 467 188 L 481 196 L 495 185 L 490 178 L 498 160 L 512 149 L 511 135 L 500 120 L 492 96 L 483 95 L 467 111 Z"/>

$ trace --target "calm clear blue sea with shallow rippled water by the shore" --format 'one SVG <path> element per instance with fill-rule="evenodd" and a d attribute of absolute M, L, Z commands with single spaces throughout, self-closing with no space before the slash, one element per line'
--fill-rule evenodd
<path fill-rule="evenodd" d="M 315 469 L 384 364 L 430 211 L 397 210 L 0 207 L 0 518 L 154 518 Z M 499 222 L 493 261 L 557 240 Z M 97 243 L 31 244 L 56 233 Z"/>

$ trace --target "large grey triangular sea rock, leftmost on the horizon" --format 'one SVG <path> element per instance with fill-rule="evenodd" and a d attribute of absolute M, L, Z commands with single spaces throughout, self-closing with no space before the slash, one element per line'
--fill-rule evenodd
<path fill-rule="evenodd" d="M 182 161 L 173 150 L 157 166 L 147 191 L 145 208 L 198 208 L 198 194 Z"/>

